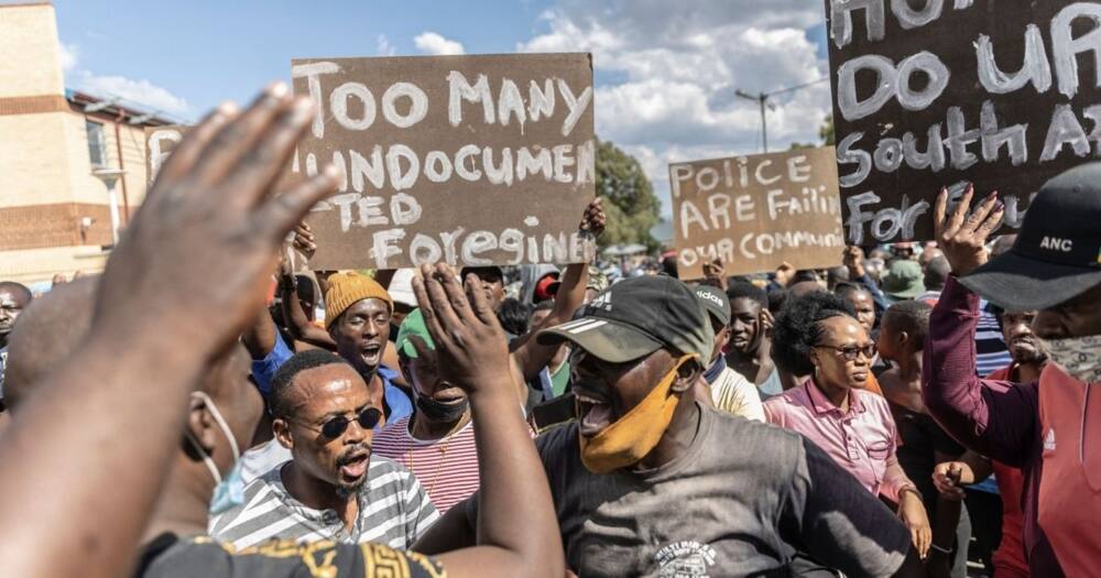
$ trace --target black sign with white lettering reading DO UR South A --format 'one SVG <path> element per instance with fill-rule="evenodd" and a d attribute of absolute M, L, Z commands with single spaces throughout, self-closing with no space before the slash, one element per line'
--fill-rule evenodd
<path fill-rule="evenodd" d="M 998 190 L 1021 226 L 1040 185 L 1097 156 L 1101 3 L 826 0 L 849 242 L 933 238 L 942 186 Z"/>

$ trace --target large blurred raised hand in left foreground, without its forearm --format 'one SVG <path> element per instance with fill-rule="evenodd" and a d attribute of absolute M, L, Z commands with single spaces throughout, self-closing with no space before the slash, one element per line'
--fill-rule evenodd
<path fill-rule="evenodd" d="M 274 192 L 313 110 L 280 83 L 243 113 L 222 106 L 188 131 L 108 261 L 95 324 L 171 327 L 207 356 L 236 339 L 263 304 L 283 239 L 336 187 L 327 167 Z"/>

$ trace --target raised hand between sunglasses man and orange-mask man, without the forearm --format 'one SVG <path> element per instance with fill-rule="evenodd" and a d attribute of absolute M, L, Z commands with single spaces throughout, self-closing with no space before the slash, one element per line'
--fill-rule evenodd
<path fill-rule="evenodd" d="M 424 315 L 424 323 L 436 342 L 440 377 L 462 388 L 471 396 L 484 393 L 515 395 L 504 330 L 486 299 L 473 274 L 468 275 L 469 291 L 446 264 L 422 265 L 421 277 L 413 280 L 413 293 Z M 502 391 L 497 392 L 497 389 Z"/>

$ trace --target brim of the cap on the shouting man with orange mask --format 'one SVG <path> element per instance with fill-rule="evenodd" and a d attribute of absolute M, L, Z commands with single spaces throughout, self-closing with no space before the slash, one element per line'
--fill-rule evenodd
<path fill-rule="evenodd" d="M 662 348 L 658 340 L 634 327 L 599 317 L 582 317 L 552 327 L 539 331 L 535 340 L 545 346 L 570 341 L 609 363 L 639 359 Z"/>

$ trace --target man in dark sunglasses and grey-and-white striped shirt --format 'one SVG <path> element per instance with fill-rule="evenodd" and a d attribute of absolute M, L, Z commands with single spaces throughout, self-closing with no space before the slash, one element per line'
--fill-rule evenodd
<path fill-rule="evenodd" d="M 344 359 L 316 349 L 295 355 L 275 373 L 269 402 L 275 438 L 293 459 L 214 517 L 215 537 L 238 548 L 279 538 L 405 549 L 439 517 L 408 470 L 371 456 L 382 391 Z"/>

